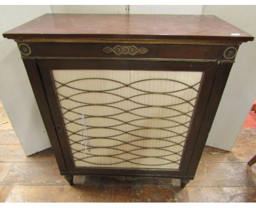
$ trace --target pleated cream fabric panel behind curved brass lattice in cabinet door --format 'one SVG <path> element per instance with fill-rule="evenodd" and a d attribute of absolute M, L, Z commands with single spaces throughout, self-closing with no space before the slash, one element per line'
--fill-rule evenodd
<path fill-rule="evenodd" d="M 76 167 L 179 169 L 202 72 L 53 70 L 53 77 Z"/>

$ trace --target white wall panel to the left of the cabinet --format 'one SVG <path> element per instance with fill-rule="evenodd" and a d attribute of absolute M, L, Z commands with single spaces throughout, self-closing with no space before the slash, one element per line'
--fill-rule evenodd
<path fill-rule="evenodd" d="M 51 13 L 46 6 L 0 6 L 0 33 Z M 50 147 L 16 42 L 0 35 L 0 99 L 26 155 Z"/>

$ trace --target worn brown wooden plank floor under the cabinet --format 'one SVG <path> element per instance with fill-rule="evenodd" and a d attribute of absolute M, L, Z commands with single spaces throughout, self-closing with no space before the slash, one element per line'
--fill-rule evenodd
<path fill-rule="evenodd" d="M 256 129 L 242 129 L 232 150 L 206 147 L 195 179 L 118 181 L 87 177 L 69 186 L 51 149 L 26 157 L 0 102 L 0 201 L 8 202 L 256 202 Z M 75 178 L 81 183 L 81 177 Z"/>

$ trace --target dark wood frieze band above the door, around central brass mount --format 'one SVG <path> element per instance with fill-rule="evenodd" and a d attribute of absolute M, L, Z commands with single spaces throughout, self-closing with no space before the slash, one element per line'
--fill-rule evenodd
<path fill-rule="evenodd" d="M 20 44 L 20 43 L 19 43 Z M 58 57 L 106 57 L 106 58 L 171 58 L 171 59 L 211 59 L 220 60 L 223 52 L 229 46 L 222 45 L 181 45 L 181 44 L 112 44 L 112 43 L 83 43 L 83 42 L 27 42 L 31 48 L 31 55 L 40 58 Z M 147 53 L 134 56 L 106 53 L 104 47 L 117 45 L 134 45 L 148 49 Z M 157 46 L 157 47 L 156 47 Z M 237 47 L 237 46 L 236 46 Z M 231 59 L 233 60 L 233 59 Z"/>

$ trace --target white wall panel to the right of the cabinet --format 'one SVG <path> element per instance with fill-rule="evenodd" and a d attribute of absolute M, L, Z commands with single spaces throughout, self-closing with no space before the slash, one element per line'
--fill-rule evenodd
<path fill-rule="evenodd" d="M 256 36 L 255 5 L 206 5 L 203 14 L 216 15 Z M 256 97 L 256 40 L 240 46 L 210 131 L 207 145 L 231 150 Z"/>

